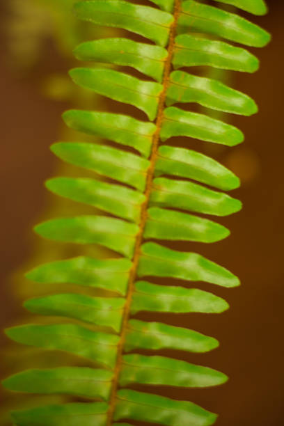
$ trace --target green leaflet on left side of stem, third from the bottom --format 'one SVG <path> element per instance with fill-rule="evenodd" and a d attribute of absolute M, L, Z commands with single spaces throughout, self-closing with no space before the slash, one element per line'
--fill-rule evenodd
<path fill-rule="evenodd" d="M 6 329 L 15 342 L 24 345 L 57 349 L 113 368 L 119 337 L 84 329 L 75 324 L 27 324 Z"/>

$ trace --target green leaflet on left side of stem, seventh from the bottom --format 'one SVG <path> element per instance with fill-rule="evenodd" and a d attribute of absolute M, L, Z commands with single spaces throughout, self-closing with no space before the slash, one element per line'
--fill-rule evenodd
<path fill-rule="evenodd" d="M 145 200 L 138 191 L 89 178 L 54 178 L 47 180 L 46 187 L 55 194 L 134 222 L 139 222 Z"/>

